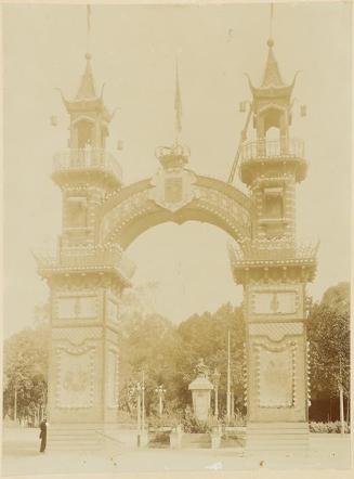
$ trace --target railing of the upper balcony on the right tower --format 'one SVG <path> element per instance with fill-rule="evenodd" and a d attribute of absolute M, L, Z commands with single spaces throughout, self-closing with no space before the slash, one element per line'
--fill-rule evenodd
<path fill-rule="evenodd" d="M 261 158 L 305 157 L 303 140 L 284 138 L 280 140 L 257 140 L 241 146 L 242 161 Z"/>

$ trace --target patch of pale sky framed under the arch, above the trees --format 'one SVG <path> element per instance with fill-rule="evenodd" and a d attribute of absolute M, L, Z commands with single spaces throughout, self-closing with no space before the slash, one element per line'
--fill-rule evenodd
<path fill-rule="evenodd" d="M 230 236 L 207 223 L 159 224 L 135 238 L 126 253 L 136 264 L 135 284 L 158 282 L 156 308 L 174 323 L 222 303 L 241 301 L 232 277 Z"/>

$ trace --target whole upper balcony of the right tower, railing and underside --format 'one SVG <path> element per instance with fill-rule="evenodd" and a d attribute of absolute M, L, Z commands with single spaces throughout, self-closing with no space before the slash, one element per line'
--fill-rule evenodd
<path fill-rule="evenodd" d="M 247 184 L 260 174 L 273 173 L 275 168 L 294 174 L 296 181 L 302 181 L 306 176 L 303 140 L 283 138 L 249 141 L 242 144 L 240 158 L 240 179 Z"/>

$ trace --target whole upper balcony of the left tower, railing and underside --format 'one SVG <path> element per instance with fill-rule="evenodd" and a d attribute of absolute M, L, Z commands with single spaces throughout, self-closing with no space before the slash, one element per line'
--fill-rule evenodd
<path fill-rule="evenodd" d="M 122 184 L 122 170 L 114 155 L 103 148 L 67 148 L 54 155 L 53 180 L 61 184 L 68 177 L 103 176 L 113 187 Z"/>

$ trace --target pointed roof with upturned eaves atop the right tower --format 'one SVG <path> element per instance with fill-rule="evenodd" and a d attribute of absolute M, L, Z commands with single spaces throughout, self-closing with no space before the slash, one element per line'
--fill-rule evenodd
<path fill-rule="evenodd" d="M 278 63 L 275 59 L 273 47 L 274 40 L 270 38 L 266 42 L 268 47 L 268 55 L 266 59 L 265 69 L 263 74 L 263 80 L 260 87 L 254 87 L 251 82 L 250 77 L 248 77 L 250 89 L 254 98 L 274 98 L 274 96 L 290 96 L 296 76 L 291 85 L 286 85 L 281 78 Z"/>

